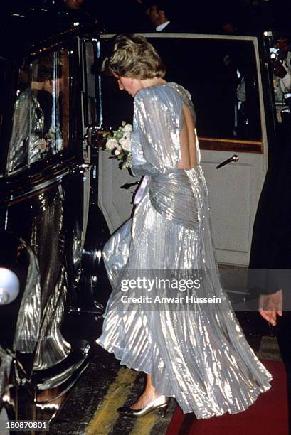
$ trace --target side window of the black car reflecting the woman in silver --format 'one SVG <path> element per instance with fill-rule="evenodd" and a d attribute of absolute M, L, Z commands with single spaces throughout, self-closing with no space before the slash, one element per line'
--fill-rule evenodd
<path fill-rule="evenodd" d="M 68 138 L 68 50 L 26 63 L 19 72 L 8 171 L 53 156 Z"/>

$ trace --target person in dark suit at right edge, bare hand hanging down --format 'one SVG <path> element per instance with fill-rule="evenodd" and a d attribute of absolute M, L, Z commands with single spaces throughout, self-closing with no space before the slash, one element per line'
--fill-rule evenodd
<path fill-rule="evenodd" d="M 291 106 L 270 141 L 269 166 L 253 227 L 250 296 L 275 327 L 287 372 L 291 434 Z M 281 127 L 281 129 L 279 128 Z"/>

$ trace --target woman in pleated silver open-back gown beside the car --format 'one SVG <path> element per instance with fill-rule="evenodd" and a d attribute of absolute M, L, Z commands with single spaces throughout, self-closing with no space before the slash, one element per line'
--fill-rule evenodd
<path fill-rule="evenodd" d="M 221 289 L 189 92 L 163 79 L 162 60 L 142 36 L 115 37 L 103 70 L 134 97 L 132 171 L 144 176 L 133 217 L 103 249 L 112 294 L 97 343 L 147 373 L 144 393 L 118 411 L 165 411 L 174 397 L 198 419 L 241 412 L 270 388 L 271 376 Z M 161 288 L 157 274 L 196 280 L 196 299 Z M 142 286 L 125 291 L 141 275 Z M 149 291 L 151 279 L 157 285 Z M 174 299 L 159 297 L 175 292 Z"/>

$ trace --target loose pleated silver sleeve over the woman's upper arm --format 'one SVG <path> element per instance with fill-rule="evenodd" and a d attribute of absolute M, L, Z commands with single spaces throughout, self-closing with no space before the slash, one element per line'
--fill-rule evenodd
<path fill-rule="evenodd" d="M 181 161 L 181 97 L 169 86 L 140 90 L 134 98 L 134 134 L 139 136 L 139 156 L 161 172 Z"/>

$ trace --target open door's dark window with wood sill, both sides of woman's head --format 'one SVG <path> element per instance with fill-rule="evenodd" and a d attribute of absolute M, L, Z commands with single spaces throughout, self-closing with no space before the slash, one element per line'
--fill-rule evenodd
<path fill-rule="evenodd" d="M 110 38 L 104 36 L 102 55 Z M 191 93 L 201 148 L 261 151 L 258 60 L 251 38 L 147 35 L 166 65 L 166 80 Z M 130 121 L 127 95 L 102 77 L 104 127 Z M 112 109 L 114 101 L 114 109 Z M 120 118 L 122 114 L 122 119 Z M 118 118 L 118 119 L 117 119 Z"/>

